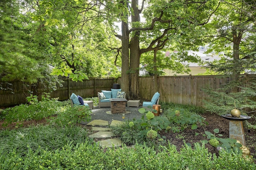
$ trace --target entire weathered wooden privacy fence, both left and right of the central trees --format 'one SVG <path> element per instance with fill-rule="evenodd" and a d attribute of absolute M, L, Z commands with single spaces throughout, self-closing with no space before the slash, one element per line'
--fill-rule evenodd
<path fill-rule="evenodd" d="M 256 75 L 247 75 L 250 79 L 256 79 Z M 50 93 L 52 98 L 59 98 L 59 100 L 67 100 L 70 94 L 75 93 L 83 98 L 96 97 L 97 92 L 101 90 L 110 90 L 114 83 L 120 84 L 122 88 L 122 78 L 118 78 L 115 82 L 114 78 L 84 80 L 84 82 L 72 82 L 67 78 L 64 80 L 63 87 L 57 87 L 57 90 Z M 158 83 L 158 90 L 153 87 L 154 81 Z M 151 100 L 155 92 L 160 93 L 160 101 L 172 102 L 176 104 L 188 104 L 194 106 L 202 106 L 202 99 L 208 95 L 203 92 L 202 88 L 210 86 L 213 89 L 220 88 L 221 85 L 230 81 L 230 78 L 220 78 L 219 76 L 160 76 L 157 80 L 154 77 L 140 77 L 139 78 L 139 96 L 141 99 Z M 28 90 L 24 87 L 22 82 L 10 82 L 12 85 L 10 90 L 0 90 L 0 106 L 13 106 L 26 103 L 26 96 L 29 96 Z M 244 84 L 248 86 L 248 84 Z M 4 88 L 7 85 L 4 84 Z M 36 95 L 41 99 L 44 92 L 42 84 L 38 85 Z"/>

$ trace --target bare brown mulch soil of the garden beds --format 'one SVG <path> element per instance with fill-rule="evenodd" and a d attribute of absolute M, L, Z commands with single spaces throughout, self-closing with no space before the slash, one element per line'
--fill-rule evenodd
<path fill-rule="evenodd" d="M 193 144 L 200 142 L 202 140 L 207 140 L 206 135 L 204 135 L 204 131 L 210 131 L 211 133 L 214 133 L 214 129 L 218 128 L 220 132 L 218 134 L 223 135 L 222 138 L 229 138 L 229 120 L 224 119 L 223 117 L 211 114 L 211 113 L 205 113 L 202 115 L 206 118 L 206 121 L 209 123 L 206 127 L 198 127 L 196 130 L 191 129 L 185 129 L 181 133 L 165 133 L 160 132 L 161 135 L 164 135 L 167 140 L 171 141 L 173 145 L 176 145 L 177 150 L 180 150 L 180 148 L 184 145 L 184 141 L 186 143 Z M 255 119 L 249 119 L 248 122 L 252 123 L 253 125 L 256 124 Z M 0 121 L 0 129 L 16 129 L 18 128 L 16 123 L 12 123 L 8 127 L 2 127 L 3 121 Z M 37 125 L 37 124 L 47 124 L 46 119 L 42 119 L 40 121 L 25 121 L 23 123 L 22 127 L 29 127 L 30 125 Z M 90 127 L 83 125 L 84 127 L 90 129 Z M 196 135 L 198 133 L 199 135 Z M 255 148 L 256 148 L 256 129 L 250 129 L 246 127 L 244 124 L 244 134 L 245 134 L 245 140 L 246 140 L 246 146 L 250 149 L 251 155 L 254 157 L 254 163 L 256 163 L 255 158 Z M 206 148 L 208 148 L 208 151 L 212 154 L 215 153 L 218 156 L 218 150 L 215 147 L 212 147 L 209 143 L 206 144 Z"/>

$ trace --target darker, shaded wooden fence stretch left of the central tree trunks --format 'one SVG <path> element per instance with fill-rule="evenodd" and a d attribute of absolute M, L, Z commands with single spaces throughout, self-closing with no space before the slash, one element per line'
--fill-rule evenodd
<path fill-rule="evenodd" d="M 90 80 L 84 80 L 84 82 L 73 82 L 68 78 L 61 78 L 64 82 L 63 86 L 57 86 L 57 90 L 50 93 L 51 98 L 59 98 L 59 100 L 67 100 L 70 94 L 74 93 L 83 98 L 95 97 L 97 92 L 101 90 L 110 90 L 114 84 L 114 78 L 97 79 L 90 78 Z M 18 104 L 26 103 L 26 96 L 30 96 L 29 91 L 35 91 L 32 86 L 26 86 L 22 82 L 9 82 L 9 84 L 3 84 L 3 88 L 10 88 L 13 90 L 1 90 L 0 89 L 0 106 L 14 106 Z M 38 84 L 34 95 L 38 96 L 41 100 L 41 96 L 44 92 L 49 92 L 45 89 L 43 84 Z"/>

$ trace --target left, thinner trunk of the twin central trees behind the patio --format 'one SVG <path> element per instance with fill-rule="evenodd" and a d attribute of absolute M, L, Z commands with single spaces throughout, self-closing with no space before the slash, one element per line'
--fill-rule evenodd
<path fill-rule="evenodd" d="M 127 4 L 128 6 L 128 4 Z M 127 16 L 128 20 L 128 16 Z M 129 70 L 129 34 L 128 34 L 128 23 L 122 21 L 122 72 L 121 72 L 121 88 L 122 91 L 126 92 L 127 98 L 129 99 L 130 89 L 129 89 L 129 75 L 127 74 Z"/>

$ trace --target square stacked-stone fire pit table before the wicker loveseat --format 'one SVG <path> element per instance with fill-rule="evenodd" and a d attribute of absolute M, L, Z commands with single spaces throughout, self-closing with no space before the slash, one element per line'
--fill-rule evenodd
<path fill-rule="evenodd" d="M 125 106 L 127 100 L 125 98 L 110 98 L 111 113 L 125 113 Z"/>

